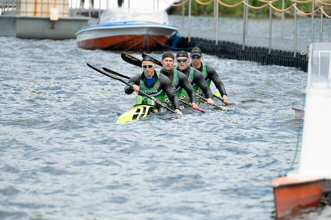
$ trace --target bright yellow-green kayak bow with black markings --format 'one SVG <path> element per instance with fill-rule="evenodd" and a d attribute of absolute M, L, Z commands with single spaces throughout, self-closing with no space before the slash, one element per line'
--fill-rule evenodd
<path fill-rule="evenodd" d="M 132 120 L 139 120 L 140 118 L 146 117 L 150 113 L 159 111 L 159 107 L 150 104 L 136 104 L 134 107 L 117 119 L 117 123 L 126 123 Z"/>

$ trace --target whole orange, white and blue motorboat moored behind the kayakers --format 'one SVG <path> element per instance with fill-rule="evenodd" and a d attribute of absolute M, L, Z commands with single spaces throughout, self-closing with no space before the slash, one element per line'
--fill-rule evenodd
<path fill-rule="evenodd" d="M 78 47 L 84 49 L 144 51 L 175 47 L 179 40 L 178 29 L 161 9 L 106 9 L 96 24 L 75 35 Z"/>

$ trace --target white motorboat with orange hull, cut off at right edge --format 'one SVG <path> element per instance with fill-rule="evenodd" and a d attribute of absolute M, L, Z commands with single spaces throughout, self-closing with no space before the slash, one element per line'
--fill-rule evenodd
<path fill-rule="evenodd" d="M 330 112 L 331 43 L 310 43 L 300 164 L 271 183 L 277 218 L 331 201 Z"/>

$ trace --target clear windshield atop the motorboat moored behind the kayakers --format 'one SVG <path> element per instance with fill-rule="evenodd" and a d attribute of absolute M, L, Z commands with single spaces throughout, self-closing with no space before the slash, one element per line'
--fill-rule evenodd
<path fill-rule="evenodd" d="M 111 8 L 104 10 L 98 23 L 146 21 L 154 23 L 169 23 L 168 14 L 160 9 L 134 9 L 134 8 Z"/>

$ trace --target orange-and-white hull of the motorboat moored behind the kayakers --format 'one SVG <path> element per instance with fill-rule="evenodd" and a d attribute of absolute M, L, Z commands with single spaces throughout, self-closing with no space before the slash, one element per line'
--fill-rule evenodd
<path fill-rule="evenodd" d="M 175 27 L 162 24 L 96 25 L 78 31 L 76 41 L 84 49 L 148 50 L 162 48 L 176 31 Z"/>

